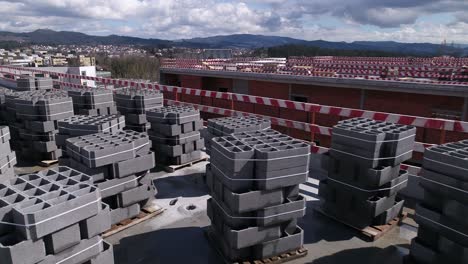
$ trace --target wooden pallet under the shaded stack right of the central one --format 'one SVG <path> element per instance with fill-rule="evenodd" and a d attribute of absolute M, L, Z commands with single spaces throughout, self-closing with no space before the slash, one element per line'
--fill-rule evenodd
<path fill-rule="evenodd" d="M 330 214 L 327 214 L 326 212 L 324 212 L 320 207 L 316 207 L 314 208 L 314 210 L 316 212 L 319 212 L 320 214 L 328 217 L 328 218 L 331 218 L 337 222 L 340 222 L 346 226 L 349 226 L 351 228 L 353 228 L 354 230 L 358 231 L 359 234 L 364 238 L 364 239 L 367 239 L 367 240 L 370 240 L 370 241 L 375 241 L 379 238 L 381 238 L 383 235 L 385 235 L 386 233 L 388 233 L 390 230 L 392 230 L 395 226 L 399 225 L 407 216 L 408 216 L 408 213 L 407 212 L 403 212 L 401 213 L 398 217 L 395 217 L 393 218 L 392 220 L 390 220 L 390 222 L 388 222 L 387 224 L 385 225 L 375 225 L 375 226 L 367 226 L 367 227 L 364 227 L 364 228 L 359 228 L 359 227 L 356 227 L 356 226 L 353 226 L 351 224 L 348 224 Z"/>

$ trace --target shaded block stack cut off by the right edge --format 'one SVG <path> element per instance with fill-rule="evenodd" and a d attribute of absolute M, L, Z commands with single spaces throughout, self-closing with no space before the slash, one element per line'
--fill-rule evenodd
<path fill-rule="evenodd" d="M 468 263 L 468 140 L 430 147 L 424 152 L 416 207 L 418 236 L 410 247 L 419 264 Z"/>

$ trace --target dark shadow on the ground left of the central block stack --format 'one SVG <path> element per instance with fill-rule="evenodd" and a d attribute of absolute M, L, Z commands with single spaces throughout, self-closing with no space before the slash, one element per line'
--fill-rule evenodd
<path fill-rule="evenodd" d="M 120 240 L 116 264 L 222 263 L 200 227 L 161 229 Z"/>

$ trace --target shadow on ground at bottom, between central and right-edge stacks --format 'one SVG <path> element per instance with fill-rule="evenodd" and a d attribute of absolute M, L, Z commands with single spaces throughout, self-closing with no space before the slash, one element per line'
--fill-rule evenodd
<path fill-rule="evenodd" d="M 402 264 L 407 255 L 408 245 L 395 245 L 386 248 L 367 247 L 343 250 L 308 262 L 308 264 Z"/>

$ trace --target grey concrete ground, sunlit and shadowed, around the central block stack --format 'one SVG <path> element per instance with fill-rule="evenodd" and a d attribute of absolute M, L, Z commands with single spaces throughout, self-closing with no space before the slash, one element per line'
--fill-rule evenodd
<path fill-rule="evenodd" d="M 106 239 L 114 245 L 116 264 L 223 263 L 203 232 L 210 225 L 206 215 L 210 196 L 203 183 L 206 164 L 201 162 L 171 174 L 152 173 L 158 188 L 156 203 L 165 211 Z M 307 213 L 299 221 L 309 252 L 306 257 L 288 263 L 403 263 L 417 231 L 411 217 L 379 240 L 366 242 L 356 237 L 355 230 L 314 212 L 318 204 L 315 179 L 318 177 L 313 173 L 317 172 L 312 172 L 308 182 L 301 185 Z"/>

